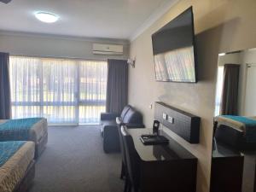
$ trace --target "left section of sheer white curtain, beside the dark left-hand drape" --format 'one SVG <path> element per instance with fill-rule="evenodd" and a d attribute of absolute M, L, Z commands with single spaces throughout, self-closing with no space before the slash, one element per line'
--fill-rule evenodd
<path fill-rule="evenodd" d="M 13 118 L 41 116 L 41 64 L 38 58 L 10 57 Z"/>

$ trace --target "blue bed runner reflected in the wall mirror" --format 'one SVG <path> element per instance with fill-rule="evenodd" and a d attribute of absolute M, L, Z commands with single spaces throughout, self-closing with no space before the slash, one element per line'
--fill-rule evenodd
<path fill-rule="evenodd" d="M 249 119 L 243 116 L 234 116 L 234 115 L 221 115 L 221 116 L 224 118 L 236 120 L 244 124 L 246 127 L 245 137 L 246 137 L 247 143 L 256 143 L 256 120 Z"/>

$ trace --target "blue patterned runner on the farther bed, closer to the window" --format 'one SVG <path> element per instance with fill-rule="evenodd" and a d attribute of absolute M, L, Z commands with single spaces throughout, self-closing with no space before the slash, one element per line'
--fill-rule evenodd
<path fill-rule="evenodd" d="M 0 141 L 27 141 L 32 125 L 42 118 L 9 119 L 0 125 Z"/>

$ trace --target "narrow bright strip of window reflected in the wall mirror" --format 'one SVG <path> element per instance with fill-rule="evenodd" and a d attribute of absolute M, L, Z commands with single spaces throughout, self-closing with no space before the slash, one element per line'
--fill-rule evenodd
<path fill-rule="evenodd" d="M 221 96 L 222 96 L 222 90 L 223 90 L 223 77 L 224 77 L 224 66 L 219 66 L 217 88 L 216 88 L 216 99 L 215 99 L 215 116 L 218 116 L 220 114 Z"/>

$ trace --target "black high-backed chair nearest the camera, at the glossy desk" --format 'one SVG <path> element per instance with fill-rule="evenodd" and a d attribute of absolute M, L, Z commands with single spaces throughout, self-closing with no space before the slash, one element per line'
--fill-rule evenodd
<path fill-rule="evenodd" d="M 128 172 L 127 178 L 125 178 L 125 186 L 129 192 L 131 192 L 131 189 L 133 189 L 134 192 L 138 192 L 140 185 L 139 155 L 137 154 L 132 137 L 126 131 L 125 126 L 122 126 L 120 131 L 124 141 L 126 171 Z"/>

